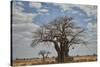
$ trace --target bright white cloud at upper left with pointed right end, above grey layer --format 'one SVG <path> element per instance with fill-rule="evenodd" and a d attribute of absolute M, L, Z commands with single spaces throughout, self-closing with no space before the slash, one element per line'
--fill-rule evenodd
<path fill-rule="evenodd" d="M 13 23 L 32 23 L 33 19 L 38 14 L 32 14 L 32 13 L 24 13 L 24 12 L 15 12 L 13 13 Z"/>

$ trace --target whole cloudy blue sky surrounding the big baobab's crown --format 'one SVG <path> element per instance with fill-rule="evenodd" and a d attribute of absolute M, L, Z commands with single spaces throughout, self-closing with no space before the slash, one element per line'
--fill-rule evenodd
<path fill-rule="evenodd" d="M 73 22 L 77 26 L 86 29 L 85 40 L 87 40 L 89 44 L 91 43 L 91 45 L 88 46 L 89 49 L 80 46 L 75 50 L 70 50 L 70 55 L 87 55 L 97 52 L 97 6 L 14 1 L 12 26 L 13 57 L 37 57 L 37 53 L 42 46 L 40 46 L 40 48 L 30 47 L 33 36 L 32 32 L 36 31 L 41 25 L 47 24 L 59 16 L 73 17 Z M 53 52 L 51 56 L 56 56 L 56 51 L 52 46 L 45 49 L 49 49 Z"/>

